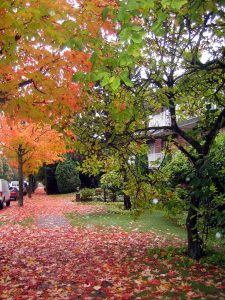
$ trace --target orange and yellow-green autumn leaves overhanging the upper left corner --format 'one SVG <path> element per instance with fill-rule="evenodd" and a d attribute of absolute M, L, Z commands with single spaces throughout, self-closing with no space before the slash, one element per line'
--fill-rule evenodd
<path fill-rule="evenodd" d="M 91 70 L 90 36 L 113 28 L 116 1 L 1 1 L 0 103 L 10 117 L 48 123 L 83 109 L 75 71 Z"/>

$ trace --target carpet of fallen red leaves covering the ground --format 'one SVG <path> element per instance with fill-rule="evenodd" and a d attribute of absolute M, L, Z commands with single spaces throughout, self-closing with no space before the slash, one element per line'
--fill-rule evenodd
<path fill-rule="evenodd" d="M 179 245 L 154 233 L 113 228 L 38 227 L 40 216 L 101 206 L 74 204 L 72 197 L 36 193 L 25 206 L 0 212 L 0 299 L 224 299 L 225 271 L 147 255 L 149 248 Z M 34 219 L 24 227 L 22 222 Z"/>

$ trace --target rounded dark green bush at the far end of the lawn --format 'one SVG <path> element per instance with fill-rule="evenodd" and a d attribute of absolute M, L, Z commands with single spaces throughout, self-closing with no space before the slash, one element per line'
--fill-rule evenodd
<path fill-rule="evenodd" d="M 75 192 L 80 187 L 77 163 L 71 158 L 66 158 L 58 164 L 55 175 L 60 193 Z"/>

